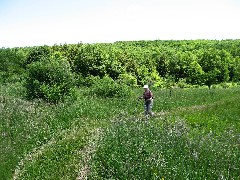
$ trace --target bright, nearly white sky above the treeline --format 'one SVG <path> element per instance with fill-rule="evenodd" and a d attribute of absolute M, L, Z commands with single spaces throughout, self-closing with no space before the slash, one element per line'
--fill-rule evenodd
<path fill-rule="evenodd" d="M 0 0 L 0 47 L 240 39 L 240 0 Z"/>

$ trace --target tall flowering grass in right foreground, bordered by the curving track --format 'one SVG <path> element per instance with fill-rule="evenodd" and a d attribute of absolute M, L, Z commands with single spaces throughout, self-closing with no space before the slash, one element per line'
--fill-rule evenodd
<path fill-rule="evenodd" d="M 239 179 L 239 134 L 175 122 L 120 120 L 92 158 L 91 179 Z"/>

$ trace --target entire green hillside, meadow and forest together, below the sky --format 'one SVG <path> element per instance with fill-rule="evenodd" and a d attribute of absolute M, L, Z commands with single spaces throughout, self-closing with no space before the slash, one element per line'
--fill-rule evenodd
<path fill-rule="evenodd" d="M 239 45 L 1 48 L 0 179 L 239 179 Z"/>

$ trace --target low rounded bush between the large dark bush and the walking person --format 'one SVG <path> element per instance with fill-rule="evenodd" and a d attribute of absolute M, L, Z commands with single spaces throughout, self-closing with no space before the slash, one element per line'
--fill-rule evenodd
<path fill-rule="evenodd" d="M 129 97 L 132 94 L 132 90 L 127 85 L 121 85 L 116 83 L 110 77 L 103 77 L 102 79 L 95 81 L 92 86 L 91 94 L 100 97 Z"/>

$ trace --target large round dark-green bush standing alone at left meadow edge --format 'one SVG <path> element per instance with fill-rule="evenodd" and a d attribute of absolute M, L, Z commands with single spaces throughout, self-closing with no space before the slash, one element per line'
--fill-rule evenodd
<path fill-rule="evenodd" d="M 57 102 L 70 94 L 73 88 L 73 74 L 69 62 L 62 57 L 43 57 L 28 67 L 26 82 L 27 96 Z"/>

